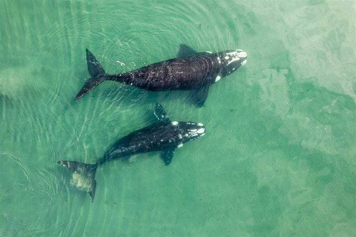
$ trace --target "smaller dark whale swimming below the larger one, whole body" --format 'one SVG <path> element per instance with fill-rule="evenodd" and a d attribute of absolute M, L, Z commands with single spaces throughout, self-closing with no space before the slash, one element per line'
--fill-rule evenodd
<path fill-rule="evenodd" d="M 203 124 L 170 121 L 162 105 L 158 103 L 155 105 L 154 115 L 158 118 L 157 123 L 122 137 L 95 164 L 69 160 L 61 160 L 57 163 L 74 172 L 71 184 L 88 192 L 93 202 L 96 188 L 95 172 L 99 165 L 109 160 L 128 158 L 133 154 L 152 151 L 162 151 L 162 159 L 168 165 L 173 158 L 175 148 L 180 148 L 187 141 L 205 134 Z"/>

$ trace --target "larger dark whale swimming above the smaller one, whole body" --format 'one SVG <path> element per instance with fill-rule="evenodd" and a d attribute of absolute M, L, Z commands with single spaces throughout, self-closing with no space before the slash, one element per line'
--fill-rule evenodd
<path fill-rule="evenodd" d="M 244 65 L 247 62 L 247 53 L 242 50 L 197 53 L 189 46 L 181 44 L 177 58 L 112 75 L 105 73 L 88 49 L 86 61 L 92 78 L 84 83 L 75 100 L 103 81 L 109 80 L 153 91 L 192 90 L 194 102 L 202 107 L 208 97 L 209 86 Z"/>

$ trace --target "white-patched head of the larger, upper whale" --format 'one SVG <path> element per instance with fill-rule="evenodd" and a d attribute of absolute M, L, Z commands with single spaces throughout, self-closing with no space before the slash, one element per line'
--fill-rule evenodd
<path fill-rule="evenodd" d="M 217 61 L 220 64 L 220 73 L 215 82 L 232 74 L 237 68 L 246 64 L 247 53 L 243 50 L 222 51 L 218 53 Z"/>

